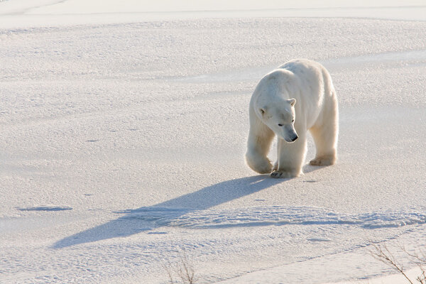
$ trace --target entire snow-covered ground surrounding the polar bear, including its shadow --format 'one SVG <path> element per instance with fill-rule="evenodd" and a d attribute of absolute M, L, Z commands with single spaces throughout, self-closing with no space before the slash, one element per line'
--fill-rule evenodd
<path fill-rule="evenodd" d="M 369 242 L 426 245 L 422 1 L 141 2 L 0 1 L 0 283 L 391 283 Z M 292 58 L 332 75 L 339 162 L 274 180 L 249 99 Z"/>

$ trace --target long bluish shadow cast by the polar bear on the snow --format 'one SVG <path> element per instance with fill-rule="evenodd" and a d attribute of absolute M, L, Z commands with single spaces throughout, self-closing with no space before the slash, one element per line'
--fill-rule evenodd
<path fill-rule="evenodd" d="M 304 172 L 310 173 L 319 168 L 322 167 L 305 165 Z M 67 236 L 53 244 L 53 248 L 61 249 L 77 244 L 131 236 L 142 231 L 148 231 L 148 234 L 150 234 L 151 230 L 167 226 L 173 219 L 187 214 L 188 212 L 209 209 L 219 204 L 236 200 L 246 195 L 251 195 L 287 180 L 288 179 L 270 178 L 269 175 L 256 175 L 248 178 L 226 180 L 215 185 L 204 187 L 202 190 L 188 193 L 187 195 L 182 195 L 149 207 L 115 212 L 116 214 L 123 214 L 124 216 L 95 226 L 92 229 Z M 151 234 L 161 233 L 162 232 L 152 232 Z"/>

